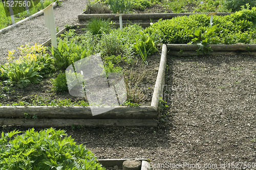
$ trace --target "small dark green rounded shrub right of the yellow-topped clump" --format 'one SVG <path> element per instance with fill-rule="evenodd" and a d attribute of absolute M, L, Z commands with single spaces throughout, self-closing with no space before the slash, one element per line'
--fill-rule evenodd
<path fill-rule="evenodd" d="M 58 74 L 58 77 L 56 79 L 51 79 L 51 81 L 53 85 L 53 88 L 52 88 L 53 90 L 60 91 L 60 92 L 69 91 L 66 74 L 60 72 L 60 74 Z"/>

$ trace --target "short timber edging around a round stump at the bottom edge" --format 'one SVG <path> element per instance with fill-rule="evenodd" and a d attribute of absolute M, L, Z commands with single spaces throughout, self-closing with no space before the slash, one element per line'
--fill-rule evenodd
<path fill-rule="evenodd" d="M 98 159 L 99 163 L 102 164 L 102 166 L 104 167 L 113 167 L 115 165 L 117 165 L 118 167 L 122 167 L 123 162 L 126 160 L 129 160 L 129 159 Z M 150 167 L 150 163 L 147 162 L 147 159 L 135 159 L 135 160 L 141 161 L 141 170 L 152 170 L 152 167 Z"/>

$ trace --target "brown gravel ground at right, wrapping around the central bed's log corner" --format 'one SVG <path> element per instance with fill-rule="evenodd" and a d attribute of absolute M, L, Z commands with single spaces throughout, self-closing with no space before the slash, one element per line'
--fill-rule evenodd
<path fill-rule="evenodd" d="M 155 167 L 201 164 L 197 169 L 224 169 L 220 163 L 234 169 L 228 163 L 238 162 L 236 169 L 255 169 L 241 162 L 256 163 L 256 56 L 168 54 L 167 65 L 163 99 L 169 107 L 161 111 L 158 128 L 63 129 L 99 159 L 149 158 Z M 14 129 L 28 128 L 1 130 Z"/>

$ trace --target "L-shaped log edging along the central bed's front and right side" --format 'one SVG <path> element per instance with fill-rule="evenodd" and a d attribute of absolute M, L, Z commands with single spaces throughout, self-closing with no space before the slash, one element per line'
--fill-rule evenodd
<path fill-rule="evenodd" d="M 98 107 L 55 107 L 55 106 L 0 106 L 0 125 L 24 127 L 65 127 L 83 125 L 85 127 L 157 127 L 158 102 L 162 96 L 167 47 L 162 46 L 159 71 L 154 88 L 151 106 L 116 106 L 105 113 L 93 116 Z M 104 106 L 108 109 L 109 107 Z M 100 109 L 102 110 L 102 109 Z M 38 119 L 26 119 L 26 115 L 36 114 Z"/>

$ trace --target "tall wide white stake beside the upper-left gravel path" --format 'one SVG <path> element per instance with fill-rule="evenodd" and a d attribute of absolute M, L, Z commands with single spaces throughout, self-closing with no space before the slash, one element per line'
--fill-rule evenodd
<path fill-rule="evenodd" d="M 51 31 L 52 46 L 57 48 L 53 3 L 44 9 L 46 27 Z"/>

